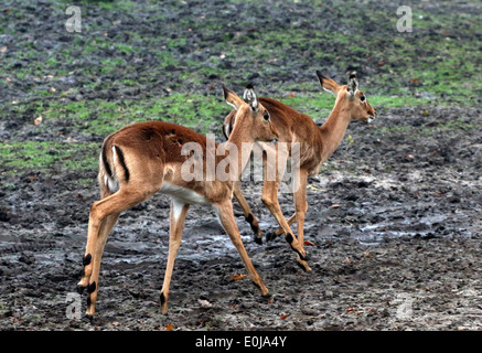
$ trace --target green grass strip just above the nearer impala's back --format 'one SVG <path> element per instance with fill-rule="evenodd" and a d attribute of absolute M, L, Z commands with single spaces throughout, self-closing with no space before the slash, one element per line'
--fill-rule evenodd
<path fill-rule="evenodd" d="M 20 114 L 23 107 L 17 108 Z M 104 99 L 61 104 L 56 100 L 39 103 L 35 114 L 43 117 L 40 131 L 51 130 L 56 125 L 68 124 L 74 132 L 87 132 L 98 137 L 121 127 L 146 120 L 161 120 L 183 125 L 200 133 L 206 133 L 213 124 L 221 125 L 231 108 L 219 96 L 185 95 L 144 100 L 108 101 Z"/>

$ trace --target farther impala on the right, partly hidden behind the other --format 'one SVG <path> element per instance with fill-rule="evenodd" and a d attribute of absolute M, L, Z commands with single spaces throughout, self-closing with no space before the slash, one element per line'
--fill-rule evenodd
<path fill-rule="evenodd" d="M 268 180 L 266 178 L 267 170 L 279 171 L 280 169 L 269 165 L 269 160 L 264 159 L 265 180 L 261 200 L 280 226 L 275 233 L 267 234 L 266 239 L 271 240 L 276 236 L 285 234 L 286 239 L 291 244 L 294 236 L 290 225 L 296 222 L 298 224 L 297 243 L 301 246 L 301 249 L 297 248 L 298 265 L 306 271 L 311 270 L 306 261 L 306 252 L 303 249 L 304 214 L 308 210 L 308 176 L 319 173 L 321 165 L 333 154 L 343 140 L 350 121 L 361 120 L 371 122 L 375 118 L 375 109 L 366 100 L 365 94 L 358 89 L 355 75 L 351 75 L 349 83 L 342 86 L 333 79 L 323 76 L 319 71 L 317 71 L 317 76 L 321 87 L 336 96 L 333 110 L 321 127 L 317 126 L 308 115 L 298 113 L 280 101 L 259 97 L 259 101 L 269 110 L 272 124 L 279 131 L 279 142 L 288 142 L 288 145 L 292 142 L 300 143 L 300 161 L 296 161 L 297 163 L 299 162 L 299 186 L 293 191 L 296 212 L 288 221 L 285 220 L 278 202 L 278 189 L 282 174 L 278 173 L 275 180 Z M 226 137 L 233 133 L 235 121 L 236 114 L 232 111 L 226 116 L 223 125 L 223 132 Z M 277 160 L 282 159 L 277 158 Z M 261 231 L 259 229 L 259 223 L 243 196 L 238 182 L 235 185 L 234 196 L 242 206 L 246 221 L 255 233 L 255 240 L 260 244 Z"/>

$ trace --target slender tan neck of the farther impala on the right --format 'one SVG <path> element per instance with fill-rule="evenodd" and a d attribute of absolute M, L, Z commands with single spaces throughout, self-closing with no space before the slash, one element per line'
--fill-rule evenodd
<path fill-rule="evenodd" d="M 349 109 L 344 108 L 345 105 L 343 104 L 343 99 L 346 98 L 336 98 L 336 103 L 329 118 L 320 127 L 323 141 L 323 148 L 321 151 L 323 162 L 328 160 L 340 146 L 351 121 L 351 113 Z"/>

